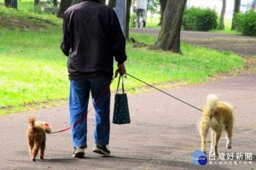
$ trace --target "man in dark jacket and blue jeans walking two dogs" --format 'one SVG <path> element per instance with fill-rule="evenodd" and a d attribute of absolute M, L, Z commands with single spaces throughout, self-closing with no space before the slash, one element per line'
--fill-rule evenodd
<path fill-rule="evenodd" d="M 84 0 L 67 8 L 63 19 L 62 52 L 68 56 L 70 79 L 69 111 L 73 137 L 73 157 L 84 157 L 87 148 L 89 96 L 95 108 L 93 151 L 109 155 L 110 90 L 102 96 L 113 77 L 113 57 L 119 73 L 125 73 L 125 37 L 112 8 L 98 0 Z M 96 103 L 96 100 L 98 102 Z"/>

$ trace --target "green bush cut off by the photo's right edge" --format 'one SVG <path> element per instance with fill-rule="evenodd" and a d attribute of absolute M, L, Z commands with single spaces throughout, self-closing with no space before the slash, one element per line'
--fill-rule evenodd
<path fill-rule="evenodd" d="M 253 10 L 235 16 L 236 30 L 246 36 L 256 36 L 256 13 Z"/>

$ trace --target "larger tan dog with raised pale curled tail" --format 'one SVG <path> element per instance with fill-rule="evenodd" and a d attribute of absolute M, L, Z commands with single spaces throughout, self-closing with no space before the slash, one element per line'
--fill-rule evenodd
<path fill-rule="evenodd" d="M 226 147 L 231 149 L 231 138 L 233 129 L 233 111 L 234 107 L 228 103 L 218 101 L 215 94 L 207 96 L 207 104 L 204 106 L 203 115 L 201 119 L 200 133 L 201 133 L 201 151 L 206 151 L 206 138 L 209 128 L 212 133 L 212 147 L 210 155 L 218 155 L 218 140 L 221 136 L 222 130 L 227 133 Z"/>

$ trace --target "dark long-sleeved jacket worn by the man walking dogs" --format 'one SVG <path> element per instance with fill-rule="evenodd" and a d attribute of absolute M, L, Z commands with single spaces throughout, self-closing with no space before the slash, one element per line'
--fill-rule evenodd
<path fill-rule="evenodd" d="M 61 50 L 71 80 L 97 75 L 113 77 L 113 57 L 126 60 L 125 37 L 112 8 L 85 0 L 64 13 Z"/>

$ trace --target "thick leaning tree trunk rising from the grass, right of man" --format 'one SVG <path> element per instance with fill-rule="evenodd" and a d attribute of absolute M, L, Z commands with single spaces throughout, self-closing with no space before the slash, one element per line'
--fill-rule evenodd
<path fill-rule="evenodd" d="M 149 48 L 163 49 L 178 54 L 182 53 L 180 50 L 180 31 L 186 1 L 187 0 L 167 1 L 158 40 Z"/>

